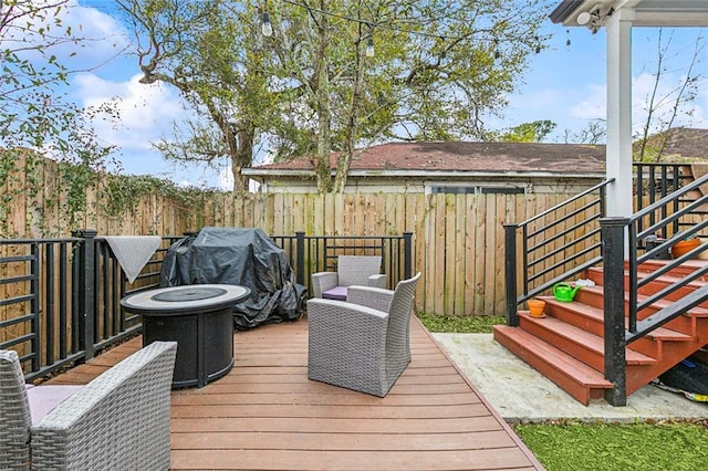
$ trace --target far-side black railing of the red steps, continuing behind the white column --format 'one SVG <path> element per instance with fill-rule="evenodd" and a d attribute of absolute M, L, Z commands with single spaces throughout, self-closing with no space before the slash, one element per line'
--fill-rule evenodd
<path fill-rule="evenodd" d="M 642 233 L 648 228 L 652 234 L 638 238 L 638 245 L 634 247 L 653 250 L 654 236 L 662 240 L 691 227 L 693 220 L 687 218 L 671 218 L 666 224 L 659 224 L 658 221 L 694 202 L 694 190 L 699 185 L 677 192 L 694 180 L 690 167 L 685 164 L 635 163 L 633 167 L 634 207 L 637 212 L 674 195 L 668 202 L 659 205 L 657 210 L 646 211 L 637 219 L 637 232 Z M 516 311 L 519 304 L 554 283 L 569 280 L 602 262 L 600 219 L 605 214 L 605 187 L 611 181 L 602 181 L 523 222 L 504 224 L 506 304 L 510 325 L 517 325 Z M 595 196 L 594 199 L 592 195 Z M 694 218 L 708 219 L 706 205 L 694 205 L 690 212 Z M 666 247 L 652 253 L 656 255 L 659 251 L 666 252 Z"/>

